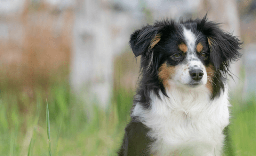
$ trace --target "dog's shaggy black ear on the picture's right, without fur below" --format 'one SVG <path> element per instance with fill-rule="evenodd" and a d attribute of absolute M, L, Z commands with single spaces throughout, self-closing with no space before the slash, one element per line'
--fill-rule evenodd
<path fill-rule="evenodd" d="M 206 16 L 201 20 L 198 27 L 208 38 L 210 61 L 217 71 L 221 70 L 227 73 L 230 62 L 237 61 L 241 57 L 239 50 L 242 43 L 237 36 L 223 32 L 219 28 L 219 24 L 207 21 Z"/>

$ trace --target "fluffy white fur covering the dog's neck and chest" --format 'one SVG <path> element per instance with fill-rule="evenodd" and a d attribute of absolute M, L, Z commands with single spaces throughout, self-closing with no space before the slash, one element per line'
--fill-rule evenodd
<path fill-rule="evenodd" d="M 219 156 L 223 147 L 222 130 L 229 123 L 227 88 L 210 99 L 205 86 L 197 89 L 171 87 L 161 100 L 151 94 L 151 108 L 137 103 L 131 116 L 151 128 L 155 141 L 151 152 L 157 156 Z"/>

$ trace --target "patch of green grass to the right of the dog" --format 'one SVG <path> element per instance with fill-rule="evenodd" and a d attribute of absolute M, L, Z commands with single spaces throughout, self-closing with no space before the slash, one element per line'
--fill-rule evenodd
<path fill-rule="evenodd" d="M 233 118 L 230 131 L 234 149 L 238 156 L 256 155 L 256 98 L 250 94 L 247 100 L 239 97 L 231 99 L 233 104 Z"/>

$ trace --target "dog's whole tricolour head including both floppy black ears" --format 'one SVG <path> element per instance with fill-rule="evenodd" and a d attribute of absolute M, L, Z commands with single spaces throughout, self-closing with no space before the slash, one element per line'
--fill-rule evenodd
<path fill-rule="evenodd" d="M 230 62 L 241 56 L 239 39 L 206 16 L 146 25 L 131 35 L 130 45 L 136 57 L 141 55 L 141 87 L 164 94 L 172 85 L 189 89 L 205 85 L 215 97 L 224 89 Z"/>

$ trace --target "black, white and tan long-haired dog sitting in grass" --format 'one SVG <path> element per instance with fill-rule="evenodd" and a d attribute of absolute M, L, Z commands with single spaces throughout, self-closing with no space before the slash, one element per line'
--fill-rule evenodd
<path fill-rule="evenodd" d="M 119 156 L 220 156 L 227 76 L 241 42 L 207 17 L 143 26 L 130 37 L 141 78 Z"/>

